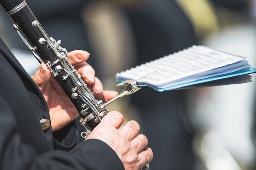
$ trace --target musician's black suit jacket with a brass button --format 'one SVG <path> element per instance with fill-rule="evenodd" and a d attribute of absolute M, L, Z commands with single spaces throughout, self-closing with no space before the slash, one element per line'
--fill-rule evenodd
<path fill-rule="evenodd" d="M 78 146 L 74 123 L 58 132 L 43 131 L 48 119 L 40 90 L 0 40 L 0 169 L 123 170 L 107 144 L 89 139 Z"/>

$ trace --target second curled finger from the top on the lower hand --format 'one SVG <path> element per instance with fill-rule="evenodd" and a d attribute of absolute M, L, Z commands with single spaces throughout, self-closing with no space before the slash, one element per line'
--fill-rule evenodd
<path fill-rule="evenodd" d="M 120 129 L 120 132 L 130 141 L 138 135 L 139 130 L 140 126 L 137 121 L 130 120 Z"/>

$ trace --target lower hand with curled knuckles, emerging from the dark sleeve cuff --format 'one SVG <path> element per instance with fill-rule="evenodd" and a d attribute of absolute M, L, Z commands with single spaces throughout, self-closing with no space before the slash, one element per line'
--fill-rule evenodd
<path fill-rule="evenodd" d="M 117 111 L 109 112 L 85 139 L 99 139 L 108 144 L 121 159 L 125 170 L 139 170 L 153 159 L 146 136 L 139 133 L 136 121 L 128 121 L 122 128 L 124 117 Z"/>

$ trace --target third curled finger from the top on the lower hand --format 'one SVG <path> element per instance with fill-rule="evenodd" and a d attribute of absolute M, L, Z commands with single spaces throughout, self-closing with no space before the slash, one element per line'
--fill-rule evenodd
<path fill-rule="evenodd" d="M 134 139 L 132 139 L 132 141 L 130 141 L 130 144 L 132 148 L 137 151 L 137 153 L 139 153 L 148 145 L 148 139 L 145 135 L 139 134 Z"/>

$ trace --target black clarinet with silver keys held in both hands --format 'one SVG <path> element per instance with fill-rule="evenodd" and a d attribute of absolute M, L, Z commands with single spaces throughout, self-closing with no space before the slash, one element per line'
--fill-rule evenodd
<path fill-rule="evenodd" d="M 78 111 L 81 116 L 79 122 L 84 128 L 81 136 L 86 138 L 108 113 L 107 104 L 94 98 L 81 75 L 69 62 L 67 50 L 60 46 L 61 40 L 56 41 L 47 35 L 25 0 L 0 0 L 0 4 L 14 21 L 13 28 L 20 38 L 38 62 L 48 66 Z M 149 164 L 141 170 L 150 170 Z"/>

